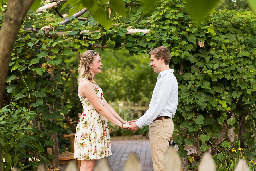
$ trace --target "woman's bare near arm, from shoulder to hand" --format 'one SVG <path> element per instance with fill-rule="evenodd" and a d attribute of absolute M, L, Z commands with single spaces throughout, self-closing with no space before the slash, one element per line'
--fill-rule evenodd
<path fill-rule="evenodd" d="M 101 101 L 99 100 L 96 92 L 94 91 L 94 87 L 88 80 L 83 80 L 79 84 L 78 93 L 84 97 L 87 97 L 90 103 L 95 107 L 95 109 L 108 121 L 112 122 L 113 124 L 122 127 L 128 128 L 129 124 L 123 124 L 117 118 L 115 118 L 110 111 L 105 108 Z"/>

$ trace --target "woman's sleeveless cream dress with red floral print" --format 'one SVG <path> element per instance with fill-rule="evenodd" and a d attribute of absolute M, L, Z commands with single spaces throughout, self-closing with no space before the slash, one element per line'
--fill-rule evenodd
<path fill-rule="evenodd" d="M 101 88 L 97 84 L 92 85 L 104 105 Z M 74 159 L 93 160 L 112 155 L 107 119 L 96 111 L 87 97 L 82 97 L 79 93 L 78 96 L 84 111 L 76 126 Z"/>

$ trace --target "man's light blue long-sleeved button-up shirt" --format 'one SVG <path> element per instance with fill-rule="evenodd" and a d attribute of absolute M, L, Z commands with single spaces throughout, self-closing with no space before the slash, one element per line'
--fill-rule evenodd
<path fill-rule="evenodd" d="M 178 105 L 178 82 L 173 71 L 169 69 L 158 74 L 149 109 L 136 121 L 139 128 L 149 125 L 158 116 L 174 117 Z"/>

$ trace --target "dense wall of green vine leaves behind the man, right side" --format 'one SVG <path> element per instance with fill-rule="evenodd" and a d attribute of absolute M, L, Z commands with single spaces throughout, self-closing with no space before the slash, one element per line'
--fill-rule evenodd
<path fill-rule="evenodd" d="M 230 148 L 231 127 L 241 147 L 244 141 L 255 144 L 255 20 L 250 11 L 213 9 L 196 23 L 181 1 L 162 1 L 150 18 L 141 21 L 152 29 L 146 37 L 127 37 L 125 47 L 133 53 L 158 46 L 171 49 L 170 66 L 179 84 L 174 122 L 180 130 L 174 142 L 182 157 L 187 154 L 185 145 L 203 152 L 215 146 L 214 154 L 219 152 L 217 146 Z"/>

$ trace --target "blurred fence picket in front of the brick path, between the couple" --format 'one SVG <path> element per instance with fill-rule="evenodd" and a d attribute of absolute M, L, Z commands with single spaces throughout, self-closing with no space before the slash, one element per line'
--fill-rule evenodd
<path fill-rule="evenodd" d="M 141 171 L 141 163 L 135 152 L 130 153 L 123 168 L 124 171 Z"/>

